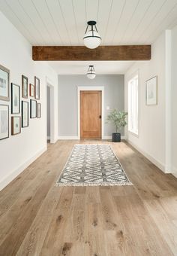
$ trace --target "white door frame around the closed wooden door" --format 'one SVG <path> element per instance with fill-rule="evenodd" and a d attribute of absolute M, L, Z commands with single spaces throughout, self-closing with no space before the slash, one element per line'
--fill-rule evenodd
<path fill-rule="evenodd" d="M 104 87 L 103 86 L 78 86 L 77 87 L 77 131 L 80 139 L 80 91 L 100 90 L 101 91 L 101 139 L 104 139 Z"/>

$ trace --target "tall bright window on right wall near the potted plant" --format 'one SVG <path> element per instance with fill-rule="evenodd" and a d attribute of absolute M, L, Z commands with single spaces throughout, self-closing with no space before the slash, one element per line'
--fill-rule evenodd
<path fill-rule="evenodd" d="M 138 74 L 128 81 L 128 130 L 139 134 L 139 86 Z"/>

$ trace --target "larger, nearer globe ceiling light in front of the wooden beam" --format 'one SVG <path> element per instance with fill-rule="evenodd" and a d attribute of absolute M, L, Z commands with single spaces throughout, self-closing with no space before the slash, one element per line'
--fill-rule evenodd
<path fill-rule="evenodd" d="M 94 20 L 90 20 L 87 23 L 83 41 L 89 49 L 95 49 L 101 44 L 101 36 L 98 34 L 96 24 L 97 23 Z M 89 26 L 91 26 L 91 30 L 89 30 Z"/>

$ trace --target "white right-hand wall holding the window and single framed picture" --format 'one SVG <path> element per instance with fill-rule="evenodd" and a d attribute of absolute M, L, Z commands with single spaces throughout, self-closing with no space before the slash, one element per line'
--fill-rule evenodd
<path fill-rule="evenodd" d="M 165 33 L 151 45 L 151 60 L 136 62 L 125 74 L 125 110 L 127 110 L 127 82 L 139 71 L 139 137 L 126 130 L 128 141 L 163 171 L 166 167 L 166 83 Z M 157 105 L 145 105 L 145 81 L 157 75 Z"/>

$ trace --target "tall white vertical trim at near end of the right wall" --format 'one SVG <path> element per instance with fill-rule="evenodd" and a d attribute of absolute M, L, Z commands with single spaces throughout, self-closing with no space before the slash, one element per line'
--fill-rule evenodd
<path fill-rule="evenodd" d="M 171 145 L 172 145 L 172 135 L 171 135 L 171 123 L 172 123 L 172 110 L 171 110 L 171 62 L 172 62 L 172 56 L 171 56 L 171 30 L 166 30 L 165 32 L 165 102 L 166 102 L 166 108 L 165 108 L 165 170 L 166 172 L 170 172 L 172 166 L 172 160 L 171 160 Z"/>

